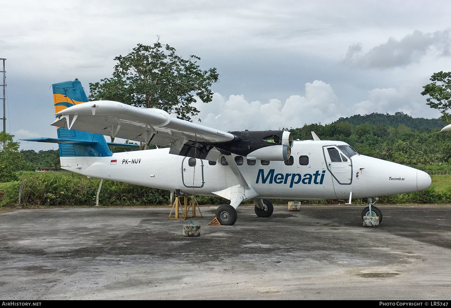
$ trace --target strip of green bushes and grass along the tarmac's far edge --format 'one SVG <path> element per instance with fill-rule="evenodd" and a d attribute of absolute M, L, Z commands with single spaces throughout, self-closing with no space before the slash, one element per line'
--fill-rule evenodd
<path fill-rule="evenodd" d="M 85 178 L 72 172 L 18 172 L 20 181 L 12 181 L 0 191 L 0 206 L 18 203 L 21 181 L 24 180 L 21 204 L 27 206 L 94 205 L 100 180 Z M 426 190 L 408 194 L 382 196 L 378 204 L 451 203 L 451 176 L 432 176 L 433 184 Z M 225 204 L 226 199 L 197 196 L 198 204 Z M 273 204 L 289 200 L 272 199 Z M 347 200 L 344 200 L 347 201 Z M 303 200 L 303 204 L 344 204 L 343 200 Z M 170 204 L 170 192 L 116 181 L 103 181 L 99 195 L 102 206 L 149 206 Z M 367 199 L 354 199 L 352 204 L 365 204 Z M 244 204 L 253 204 L 252 200 Z"/>

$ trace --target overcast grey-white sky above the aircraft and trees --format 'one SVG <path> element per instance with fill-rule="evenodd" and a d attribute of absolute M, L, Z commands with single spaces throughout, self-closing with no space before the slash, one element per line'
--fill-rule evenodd
<path fill-rule="evenodd" d="M 56 136 L 53 83 L 78 78 L 89 91 L 111 77 L 115 56 L 157 36 L 217 68 L 213 101 L 197 106 L 210 127 L 295 128 L 373 112 L 439 117 L 420 93 L 434 72 L 451 70 L 449 0 L 222 2 L 3 0 L 7 132 Z"/>

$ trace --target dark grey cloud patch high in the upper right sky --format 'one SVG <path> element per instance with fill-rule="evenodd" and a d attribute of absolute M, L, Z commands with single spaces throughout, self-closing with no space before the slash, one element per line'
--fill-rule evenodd
<path fill-rule="evenodd" d="M 418 63 L 430 50 L 438 56 L 450 55 L 450 31 L 423 33 L 415 30 L 400 40 L 389 38 L 386 43 L 362 52 L 361 44 L 348 47 L 344 63 L 362 68 L 393 68 Z"/>

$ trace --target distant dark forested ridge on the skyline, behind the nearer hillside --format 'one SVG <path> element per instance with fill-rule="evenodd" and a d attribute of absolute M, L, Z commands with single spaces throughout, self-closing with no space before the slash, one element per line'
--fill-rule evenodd
<path fill-rule="evenodd" d="M 446 122 L 440 119 L 425 119 L 425 118 L 412 118 L 410 115 L 397 112 L 395 114 L 383 114 L 383 113 L 371 113 L 360 115 L 356 114 L 349 118 L 339 118 L 334 123 L 349 122 L 350 124 L 357 126 L 368 122 L 371 125 L 393 125 L 400 126 L 401 124 L 419 130 L 428 130 L 431 128 L 442 128 L 446 126 Z"/>

